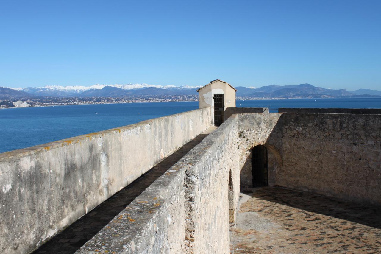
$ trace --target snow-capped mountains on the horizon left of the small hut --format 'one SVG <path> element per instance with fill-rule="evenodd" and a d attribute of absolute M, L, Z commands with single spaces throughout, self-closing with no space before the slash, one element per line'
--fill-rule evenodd
<path fill-rule="evenodd" d="M 82 86 L 82 85 L 76 85 L 76 86 L 61 86 L 61 85 L 45 85 L 45 87 L 26 87 L 26 88 L 13 88 L 9 87 L 13 90 L 18 90 L 22 92 L 31 93 L 35 96 L 58 96 L 58 97 L 65 97 L 65 96 L 82 96 L 81 94 L 86 91 L 93 91 L 93 90 L 102 90 L 105 87 L 115 87 L 120 88 L 123 90 L 136 90 L 136 89 L 147 89 L 150 87 L 158 88 L 160 90 L 172 90 L 172 92 L 165 92 L 165 93 L 182 93 L 186 92 L 188 94 L 191 92 L 190 90 L 196 90 L 197 88 L 200 88 L 202 86 L 189 86 L 189 85 L 182 85 L 182 86 L 175 86 L 175 85 L 150 85 L 150 84 L 114 84 L 114 85 L 104 85 L 104 84 L 95 84 L 88 87 Z M 132 92 L 132 91 L 131 91 Z M 194 92 L 196 94 L 196 92 Z M 91 92 L 91 93 L 84 93 L 83 95 L 87 94 L 99 94 L 99 92 Z"/>

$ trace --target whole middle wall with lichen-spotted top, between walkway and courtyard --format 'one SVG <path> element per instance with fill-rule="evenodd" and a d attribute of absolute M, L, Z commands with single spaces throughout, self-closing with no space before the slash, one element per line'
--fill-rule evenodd
<path fill-rule="evenodd" d="M 77 253 L 229 252 L 229 205 L 239 199 L 237 120 L 210 133 Z"/>

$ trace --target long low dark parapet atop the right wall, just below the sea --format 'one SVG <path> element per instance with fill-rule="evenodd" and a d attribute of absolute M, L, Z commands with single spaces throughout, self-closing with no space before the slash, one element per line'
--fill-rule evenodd
<path fill-rule="evenodd" d="M 381 114 L 380 108 L 279 108 L 279 113 Z"/>

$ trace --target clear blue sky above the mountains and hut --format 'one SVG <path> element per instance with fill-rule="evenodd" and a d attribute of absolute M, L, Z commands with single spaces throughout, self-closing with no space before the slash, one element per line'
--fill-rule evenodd
<path fill-rule="evenodd" d="M 381 90 L 381 1 L 3 1 L 0 86 Z"/>

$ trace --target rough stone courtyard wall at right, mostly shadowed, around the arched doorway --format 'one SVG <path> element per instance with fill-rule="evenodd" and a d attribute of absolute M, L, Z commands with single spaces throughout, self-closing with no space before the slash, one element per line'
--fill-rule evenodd
<path fill-rule="evenodd" d="M 270 185 L 381 205 L 381 115 L 243 114 L 239 120 L 240 164 L 253 146 L 265 145 Z"/>

